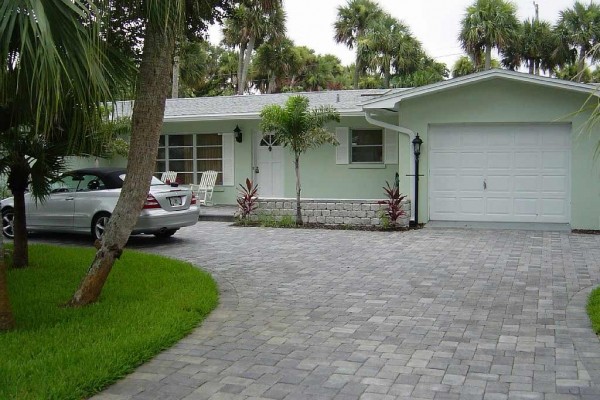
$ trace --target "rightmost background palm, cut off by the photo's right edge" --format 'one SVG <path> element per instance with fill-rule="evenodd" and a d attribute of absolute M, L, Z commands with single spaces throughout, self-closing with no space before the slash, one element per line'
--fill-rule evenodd
<path fill-rule="evenodd" d="M 593 2 L 587 6 L 575 2 L 573 8 L 560 12 L 556 29 L 565 39 L 564 43 L 577 51 L 578 71 L 582 72 L 585 59 L 595 58 L 591 51 L 600 42 L 600 6 Z"/>

